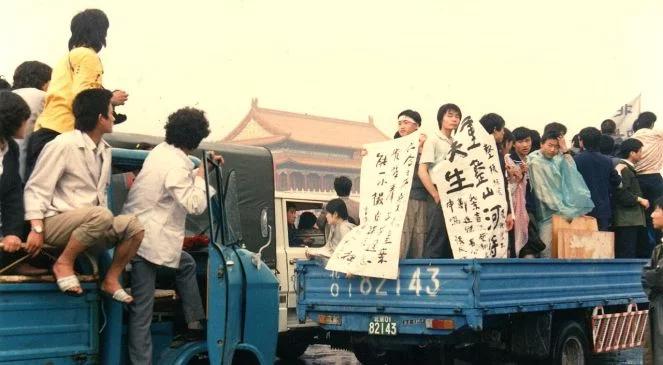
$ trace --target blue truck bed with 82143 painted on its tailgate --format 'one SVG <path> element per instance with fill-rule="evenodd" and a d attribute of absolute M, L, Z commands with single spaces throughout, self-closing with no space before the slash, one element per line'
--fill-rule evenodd
<path fill-rule="evenodd" d="M 385 280 L 347 278 L 316 261 L 299 261 L 297 313 L 330 331 L 331 342 L 363 364 L 453 364 L 455 358 L 586 364 L 595 308 L 645 308 L 645 263 L 408 259 L 400 262 L 397 280 Z M 638 336 L 646 318 L 640 320 Z"/>

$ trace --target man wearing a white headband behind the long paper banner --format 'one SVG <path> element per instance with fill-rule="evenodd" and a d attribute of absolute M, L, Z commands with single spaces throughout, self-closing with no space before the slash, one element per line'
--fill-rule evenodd
<path fill-rule="evenodd" d="M 421 127 L 421 114 L 414 110 L 404 110 L 398 114 L 398 131 L 394 139 L 405 137 L 419 130 Z M 414 165 L 414 177 L 412 178 L 412 188 L 407 202 L 407 211 L 405 221 L 403 222 L 403 234 L 401 235 L 401 260 L 405 258 L 418 259 L 423 257 L 424 242 L 426 242 L 426 228 L 428 217 L 426 217 L 428 204 L 428 192 L 421 182 L 419 174 L 419 161 L 421 160 L 421 150 L 423 149 L 426 135 L 419 137 L 419 151 L 417 161 Z"/>

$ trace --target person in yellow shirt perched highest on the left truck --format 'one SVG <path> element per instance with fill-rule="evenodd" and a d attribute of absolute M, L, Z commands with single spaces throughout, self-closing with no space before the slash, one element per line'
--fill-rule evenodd
<path fill-rule="evenodd" d="M 59 134 L 74 130 L 74 97 L 83 90 L 103 88 L 104 71 L 97 53 L 106 46 L 108 27 L 108 18 L 99 9 L 87 9 L 72 18 L 69 53 L 53 69 L 44 111 L 28 140 L 26 180 L 44 146 Z M 123 105 L 127 99 L 126 92 L 116 90 L 111 103 Z"/>

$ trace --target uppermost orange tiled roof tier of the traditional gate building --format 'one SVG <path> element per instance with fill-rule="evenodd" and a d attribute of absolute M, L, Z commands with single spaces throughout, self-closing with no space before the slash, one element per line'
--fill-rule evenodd
<path fill-rule="evenodd" d="M 266 109 L 253 99 L 251 109 L 223 142 L 268 146 L 292 141 L 315 146 L 360 149 L 365 143 L 386 141 L 387 137 L 368 122 L 320 117 Z"/>

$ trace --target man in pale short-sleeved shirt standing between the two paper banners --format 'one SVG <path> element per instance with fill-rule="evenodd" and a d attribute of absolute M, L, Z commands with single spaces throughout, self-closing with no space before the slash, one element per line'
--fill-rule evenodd
<path fill-rule="evenodd" d="M 428 199 L 428 217 L 426 229 L 426 242 L 422 256 L 424 258 L 453 258 L 451 243 L 447 235 L 447 227 L 440 205 L 440 195 L 437 187 L 433 184 L 430 170 L 438 166 L 447 158 L 447 152 L 451 148 L 453 138 L 451 134 L 463 117 L 460 108 L 456 104 L 444 104 L 437 111 L 437 125 L 439 130 L 431 138 L 427 138 L 421 150 L 419 170 L 417 174 L 421 183 L 430 195 Z"/>

